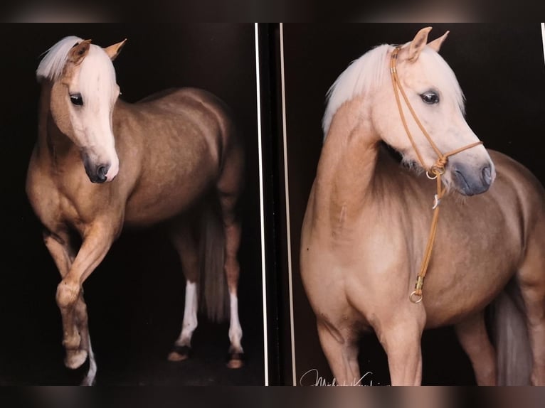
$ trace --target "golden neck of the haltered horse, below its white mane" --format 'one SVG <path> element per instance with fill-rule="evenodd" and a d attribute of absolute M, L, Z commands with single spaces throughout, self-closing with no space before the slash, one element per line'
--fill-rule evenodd
<path fill-rule="evenodd" d="M 380 139 L 354 109 L 348 103 L 335 114 L 318 167 L 317 200 L 334 218 L 358 217 L 372 196 Z"/>

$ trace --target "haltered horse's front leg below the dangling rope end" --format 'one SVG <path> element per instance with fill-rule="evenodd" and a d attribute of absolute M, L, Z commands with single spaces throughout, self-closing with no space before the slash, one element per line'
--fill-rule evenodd
<path fill-rule="evenodd" d="M 394 316 L 388 316 L 376 327 L 386 354 L 391 385 L 420 385 L 422 382 L 422 350 L 420 340 L 425 326 L 425 310 L 422 304 L 396 307 Z"/>

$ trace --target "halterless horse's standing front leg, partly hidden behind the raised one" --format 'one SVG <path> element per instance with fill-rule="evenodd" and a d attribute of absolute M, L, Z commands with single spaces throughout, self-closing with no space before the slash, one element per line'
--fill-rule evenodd
<path fill-rule="evenodd" d="M 70 244 L 70 235 L 62 232 L 58 235 L 53 235 L 51 232 L 44 232 L 43 241 L 45 242 L 51 257 L 53 257 L 53 261 L 60 272 L 60 276 L 64 278 L 66 274 L 68 274 L 70 267 L 72 267 L 75 258 L 75 250 Z M 79 355 L 79 357 L 76 358 L 77 363 L 79 364 L 82 359 L 85 361 L 85 358 L 89 358 L 89 370 L 83 379 L 82 385 L 92 385 L 95 381 L 97 365 L 95 362 L 95 355 L 92 353 L 91 348 L 87 305 L 83 299 L 83 292 L 80 293 L 78 301 L 75 304 L 75 319 L 80 338 L 82 339 L 79 353 L 77 353 Z M 66 361 L 65 364 L 70 367 L 72 362 Z"/>

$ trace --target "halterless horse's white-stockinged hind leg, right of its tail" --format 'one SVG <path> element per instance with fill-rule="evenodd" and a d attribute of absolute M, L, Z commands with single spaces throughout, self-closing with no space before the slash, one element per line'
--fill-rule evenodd
<path fill-rule="evenodd" d="M 225 236 L 224 269 L 227 277 L 227 286 L 230 301 L 229 348 L 228 367 L 239 368 L 243 365 L 242 328 L 238 318 L 238 248 L 240 247 L 240 220 L 236 213 L 238 197 L 242 188 L 243 152 L 240 149 L 231 149 L 230 156 L 226 157 L 221 177 L 218 180 L 218 197 L 221 205 L 223 231 Z"/>

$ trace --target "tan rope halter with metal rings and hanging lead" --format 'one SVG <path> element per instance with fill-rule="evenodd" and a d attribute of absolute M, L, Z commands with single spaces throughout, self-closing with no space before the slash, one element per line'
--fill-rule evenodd
<path fill-rule="evenodd" d="M 453 151 L 449 151 L 448 153 L 443 154 L 438 146 L 433 142 L 428 132 L 424 129 L 422 123 L 420 123 L 420 120 L 418 120 L 418 117 L 416 116 L 416 112 L 414 111 L 413 107 L 408 101 L 408 97 L 403 90 L 403 87 L 401 86 L 401 81 L 399 80 L 397 70 L 396 70 L 396 64 L 398 60 L 398 53 L 400 47 L 396 47 L 396 49 L 393 50 L 392 56 L 390 59 L 390 72 L 392 77 L 392 85 L 393 85 L 393 93 L 396 95 L 396 102 L 398 104 L 398 111 L 399 115 L 401 116 L 401 122 L 403 122 L 403 127 L 405 128 L 405 131 L 407 133 L 407 136 L 409 140 L 411 141 L 411 144 L 413 145 L 413 149 L 416 152 L 416 156 L 418 156 L 418 161 L 420 161 L 420 165 L 423 168 L 425 167 L 424 160 L 422 158 L 422 155 L 420 154 L 420 151 L 418 151 L 418 148 L 416 147 L 416 143 L 413 139 L 413 136 L 411 135 L 411 131 L 408 129 L 407 121 L 405 118 L 405 114 L 403 114 L 403 108 L 401 106 L 401 99 L 399 97 L 399 94 L 401 92 L 401 96 L 403 96 L 403 100 L 405 100 L 405 103 L 409 109 L 409 112 L 411 112 L 411 115 L 420 128 L 420 131 L 424 134 L 425 138 L 428 139 L 428 142 L 430 146 L 432 146 L 433 150 L 435 151 L 435 154 L 437 154 L 438 159 L 433 163 L 433 166 L 428 168 L 426 170 L 426 176 L 430 178 L 430 180 L 435 180 L 437 182 L 437 194 L 435 194 L 435 200 L 433 202 L 433 219 L 431 222 L 430 227 L 430 235 L 428 237 L 428 244 L 425 247 L 424 252 L 424 259 L 422 261 L 422 264 L 420 265 L 420 272 L 418 272 L 418 275 L 416 276 L 416 284 L 415 284 L 415 290 L 411 292 L 409 295 L 409 299 L 413 303 L 420 303 L 422 301 L 422 286 L 424 285 L 424 278 L 425 274 L 428 271 L 428 265 L 430 264 L 430 258 L 431 258 L 431 252 L 433 249 L 433 242 L 435 241 L 435 232 L 437 231 L 437 224 L 439 220 L 439 204 L 441 202 L 441 198 L 443 198 L 443 195 L 445 194 L 445 188 L 443 188 L 443 184 L 441 183 L 441 176 L 443 176 L 443 173 L 445 173 L 445 166 L 448 163 L 448 158 L 450 156 L 453 156 L 457 153 L 460 153 L 460 151 L 464 151 L 467 149 L 471 149 L 472 147 L 478 146 L 482 144 L 482 141 L 476 141 L 475 143 L 468 144 L 467 146 L 460 147 L 460 149 L 456 149 Z M 430 173 L 433 174 L 433 176 L 430 176 Z"/>

